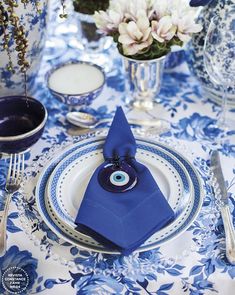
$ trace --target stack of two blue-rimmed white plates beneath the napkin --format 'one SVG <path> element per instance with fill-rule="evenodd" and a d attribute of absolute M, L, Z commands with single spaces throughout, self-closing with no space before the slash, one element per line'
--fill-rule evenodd
<path fill-rule="evenodd" d="M 39 178 L 36 200 L 43 220 L 60 238 L 87 250 L 117 254 L 76 231 L 74 224 L 89 178 L 102 162 L 103 143 L 103 137 L 93 138 L 57 155 Z M 200 211 L 203 190 L 195 168 L 177 151 L 143 139 L 137 144 L 137 159 L 150 168 L 175 211 L 175 220 L 150 237 L 137 250 L 141 252 L 183 233 Z"/>

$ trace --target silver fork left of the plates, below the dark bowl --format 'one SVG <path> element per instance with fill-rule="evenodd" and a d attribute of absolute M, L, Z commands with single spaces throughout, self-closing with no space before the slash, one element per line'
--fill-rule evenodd
<path fill-rule="evenodd" d="M 0 223 L 0 256 L 6 252 L 6 226 L 12 195 L 19 189 L 24 174 L 24 153 L 10 156 L 5 192 L 5 206 Z"/>

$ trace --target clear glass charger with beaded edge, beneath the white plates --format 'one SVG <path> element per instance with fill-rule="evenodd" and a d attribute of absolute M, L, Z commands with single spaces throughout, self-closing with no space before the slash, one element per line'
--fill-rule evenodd
<path fill-rule="evenodd" d="M 137 136 L 138 134 L 139 133 L 136 133 Z M 107 135 L 107 130 L 95 131 L 95 136 L 105 135 Z M 91 138 L 94 138 L 93 132 L 78 137 L 68 138 L 64 140 L 63 143 L 55 144 L 50 149 L 46 149 L 43 155 L 39 158 L 35 158 L 33 164 L 27 167 L 25 171 L 24 181 L 19 190 L 16 204 L 19 212 L 19 220 L 21 221 L 21 228 L 26 233 L 28 239 L 44 253 L 45 259 L 50 257 L 62 265 L 67 265 L 69 268 L 75 267 L 76 269 L 82 269 L 83 271 L 85 271 L 87 265 L 89 265 L 89 270 L 87 269 L 87 272 L 90 272 L 91 268 L 93 271 L 96 271 L 96 268 L 101 271 L 99 267 L 100 261 L 106 259 L 110 261 L 112 258 L 113 264 L 111 263 L 112 265 L 110 265 L 110 268 L 115 270 L 117 260 L 119 261 L 119 259 L 122 259 L 120 255 L 107 256 L 95 251 L 87 252 L 84 251 L 81 246 L 75 246 L 71 242 L 67 242 L 65 239 L 60 238 L 60 236 L 55 234 L 55 232 L 44 222 L 36 203 L 36 186 L 38 185 L 39 178 L 42 178 L 43 169 L 48 166 L 48 163 L 51 163 L 50 168 L 48 167 L 47 174 L 44 174 L 41 179 L 42 183 L 44 183 L 43 198 L 48 179 L 58 163 L 63 160 L 65 156 L 76 151 L 78 146 L 87 147 L 87 142 L 90 142 Z M 188 143 L 184 143 L 184 141 L 169 137 L 159 137 L 156 136 L 156 134 L 149 134 L 148 138 L 158 142 L 159 148 L 164 148 L 165 153 L 175 153 L 175 155 L 171 154 L 171 157 L 175 157 L 175 161 L 177 161 L 179 154 L 185 155 L 188 161 L 192 163 L 188 164 L 189 167 L 193 165 L 202 179 L 203 199 L 204 202 L 206 202 L 206 205 L 200 210 L 199 217 L 182 235 L 178 237 L 176 236 L 167 243 L 159 245 L 159 247 L 151 252 L 146 252 L 151 253 L 152 259 L 154 259 L 156 263 L 180 261 L 183 257 L 189 256 L 200 247 L 203 247 L 204 243 L 206 244 L 207 240 L 210 239 L 211 230 L 208 231 L 208 227 L 205 226 L 205 223 L 208 224 L 209 222 L 211 229 L 214 226 L 215 214 L 218 212 L 217 210 L 215 212 L 213 211 L 214 206 L 212 202 L 207 203 L 207 200 L 210 200 L 212 194 L 210 168 L 205 161 L 201 161 L 200 158 L 198 158 L 197 154 L 192 153 L 192 151 L 195 150 L 195 147 L 192 149 L 192 147 L 188 146 Z M 71 150 L 72 146 L 74 150 Z M 166 149 L 168 149 L 168 151 Z M 58 157 L 58 155 L 60 155 L 60 157 Z M 54 161 L 55 158 L 57 158 L 57 161 Z M 45 212 L 47 212 L 46 206 L 44 206 L 44 208 Z M 50 218 L 50 216 L 48 218 Z M 87 247 L 87 245 L 84 246 Z M 159 253 L 161 253 L 160 256 Z M 133 255 L 125 257 L 125 261 L 128 265 L 134 263 L 137 268 L 140 267 L 145 269 L 146 267 L 152 267 L 153 260 L 146 260 L 143 259 L 143 257 L 139 253 L 133 253 Z M 91 263 L 90 259 L 93 258 L 94 260 L 92 260 L 93 262 Z M 123 268 L 121 267 L 120 273 L 122 273 L 122 271 Z"/>

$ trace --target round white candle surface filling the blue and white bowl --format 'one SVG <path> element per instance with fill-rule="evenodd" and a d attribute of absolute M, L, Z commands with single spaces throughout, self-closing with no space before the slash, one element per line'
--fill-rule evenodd
<path fill-rule="evenodd" d="M 83 94 L 99 88 L 104 74 L 89 64 L 68 64 L 55 70 L 49 77 L 49 88 L 63 94 Z"/>

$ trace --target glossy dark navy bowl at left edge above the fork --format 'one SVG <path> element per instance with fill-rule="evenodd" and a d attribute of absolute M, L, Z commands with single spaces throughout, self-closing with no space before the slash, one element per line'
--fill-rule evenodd
<path fill-rule="evenodd" d="M 27 150 L 41 137 L 47 110 L 41 102 L 25 96 L 0 97 L 0 153 Z"/>

